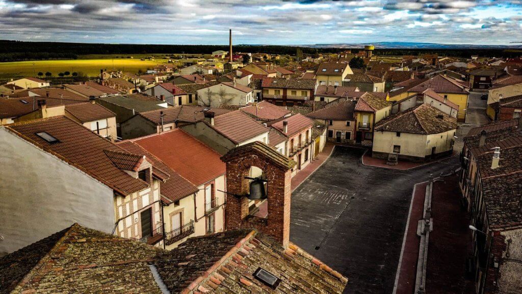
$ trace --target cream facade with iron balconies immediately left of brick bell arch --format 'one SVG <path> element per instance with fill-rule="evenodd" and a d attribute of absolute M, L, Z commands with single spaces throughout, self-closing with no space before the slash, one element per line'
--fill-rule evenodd
<path fill-rule="evenodd" d="M 165 248 L 171 250 L 179 246 L 187 238 L 224 231 L 224 202 L 226 197 L 219 190 L 226 190 L 225 185 L 225 176 L 220 175 L 216 179 L 198 186 L 198 193 L 195 196 L 192 195 L 181 199 L 179 205 L 171 203 L 169 206 L 163 207 L 166 232 L 172 232 L 194 221 L 194 232 L 192 234 L 166 245 Z M 209 190 L 211 190 L 213 195 L 207 197 Z M 209 198 L 215 199 L 213 200 L 214 202 L 208 202 Z M 177 233 L 179 230 L 175 232 Z M 170 242 L 167 241 L 167 243 Z"/>

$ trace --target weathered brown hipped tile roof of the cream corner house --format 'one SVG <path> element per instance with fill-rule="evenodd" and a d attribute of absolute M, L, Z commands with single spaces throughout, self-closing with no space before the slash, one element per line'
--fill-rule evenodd
<path fill-rule="evenodd" d="M 457 128 L 457 119 L 429 104 L 398 112 L 375 124 L 375 131 L 438 134 Z"/>

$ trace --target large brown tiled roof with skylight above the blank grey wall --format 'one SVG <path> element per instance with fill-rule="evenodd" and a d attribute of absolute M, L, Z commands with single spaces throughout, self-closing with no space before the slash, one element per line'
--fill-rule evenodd
<path fill-rule="evenodd" d="M 100 182 L 126 196 L 149 187 L 149 184 L 118 168 L 105 154 L 106 150 L 125 152 L 110 141 L 63 116 L 16 123 L 7 129 L 56 155 Z M 58 142 L 49 143 L 36 133 L 46 132 Z"/>

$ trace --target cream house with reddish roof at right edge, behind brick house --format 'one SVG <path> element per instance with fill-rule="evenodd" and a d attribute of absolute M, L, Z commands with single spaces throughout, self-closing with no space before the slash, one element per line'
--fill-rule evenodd
<path fill-rule="evenodd" d="M 489 90 L 486 113 L 491 119 L 495 119 L 495 109 L 491 105 L 502 98 L 520 95 L 520 93 L 522 93 L 522 76 L 514 75 L 499 78 Z"/>

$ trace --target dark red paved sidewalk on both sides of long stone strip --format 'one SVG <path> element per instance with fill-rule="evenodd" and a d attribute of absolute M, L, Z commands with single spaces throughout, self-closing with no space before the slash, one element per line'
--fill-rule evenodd
<path fill-rule="evenodd" d="M 444 182 L 433 184 L 433 231 L 428 244 L 425 290 L 434 294 L 470 294 L 473 293 L 473 282 L 466 279 L 466 258 L 471 254 L 469 219 L 467 213 L 460 209 L 457 176 L 442 179 Z M 415 186 L 399 261 L 396 294 L 411 294 L 414 291 L 420 242 L 417 225 L 422 219 L 428 184 Z"/>

